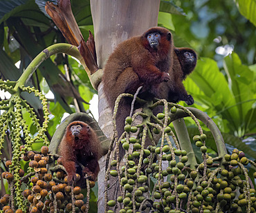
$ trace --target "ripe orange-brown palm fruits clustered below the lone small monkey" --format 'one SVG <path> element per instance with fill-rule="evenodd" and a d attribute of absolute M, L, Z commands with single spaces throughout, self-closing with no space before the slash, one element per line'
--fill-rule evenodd
<path fill-rule="evenodd" d="M 23 148 L 21 146 L 21 148 Z M 80 186 L 68 185 L 66 172 L 61 165 L 61 158 L 57 158 L 58 164 L 55 170 L 48 170 L 48 163 L 53 161 L 53 156 L 48 154 L 48 147 L 43 146 L 41 152 L 29 151 L 23 156 L 24 161 L 28 161 L 28 171 L 19 170 L 19 184 L 23 190 L 23 202 L 26 203 L 23 209 L 15 206 L 13 197 L 13 174 L 3 172 L 1 176 L 6 179 L 10 185 L 11 194 L 5 194 L 0 199 L 4 213 L 11 212 L 87 212 L 89 209 L 86 203 L 86 197 L 81 192 Z M 12 161 L 6 161 L 6 167 L 10 167 Z M 76 174 L 76 181 L 79 181 L 80 175 Z M 89 183 L 89 182 L 88 182 Z M 90 187 L 94 182 L 90 181 Z M 88 190 L 88 188 L 87 188 Z"/>

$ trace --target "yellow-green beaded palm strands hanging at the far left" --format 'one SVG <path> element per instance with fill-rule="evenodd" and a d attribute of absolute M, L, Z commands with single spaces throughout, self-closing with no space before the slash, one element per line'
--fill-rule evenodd
<path fill-rule="evenodd" d="M 8 210 L 8 205 L 3 207 L 4 209 L 7 209 L 8 212 L 15 211 L 17 208 L 20 210 L 25 209 L 24 199 L 21 194 L 23 189 L 21 188 L 20 181 L 22 179 L 21 177 L 25 174 L 23 167 L 21 167 L 21 163 L 23 163 L 22 156 L 29 150 L 32 150 L 31 146 L 35 141 L 40 140 L 43 141 L 45 145 L 49 144 L 47 136 L 44 134 L 48 125 L 49 115 L 47 99 L 42 92 L 39 92 L 39 90 L 25 87 L 22 84 L 24 80 L 25 77 L 17 82 L 8 80 L 2 81 L 0 79 L 1 90 L 8 91 L 12 94 L 10 99 L 0 101 L 0 110 L 2 110 L 0 116 L 0 155 L 4 143 L 7 142 L 12 145 L 12 161 L 6 162 L 8 172 L 3 172 L 1 175 L 4 180 L 6 179 L 10 183 L 10 198 L 7 203 L 10 203 L 11 210 Z M 30 107 L 26 100 L 21 99 L 21 92 L 33 93 L 35 94 L 35 97 L 39 97 L 39 100 L 42 101 L 42 110 L 44 113 L 43 123 L 40 124 L 33 108 Z M 24 118 L 25 116 L 26 119 Z M 33 134 L 30 133 L 30 127 L 27 123 L 28 120 L 30 120 L 36 128 L 36 136 L 32 136 Z M 21 146 L 21 144 L 25 145 Z M 29 168 L 28 172 L 30 172 Z M 6 203 L 4 199 L 3 203 Z M 6 210 L 4 212 L 6 212 Z"/>

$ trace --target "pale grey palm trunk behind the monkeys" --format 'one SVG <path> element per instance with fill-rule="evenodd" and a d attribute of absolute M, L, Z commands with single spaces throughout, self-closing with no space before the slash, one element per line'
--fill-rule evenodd
<path fill-rule="evenodd" d="M 91 0 L 91 14 L 98 65 L 104 68 L 109 54 L 116 46 L 130 37 L 143 34 L 147 29 L 157 26 L 160 0 Z M 98 86 L 99 125 L 104 134 L 113 136 L 111 110 L 102 92 L 102 83 Z M 98 176 L 98 212 L 104 212 L 104 176 L 105 158 L 100 160 Z M 108 194 L 115 199 L 116 188 Z"/>

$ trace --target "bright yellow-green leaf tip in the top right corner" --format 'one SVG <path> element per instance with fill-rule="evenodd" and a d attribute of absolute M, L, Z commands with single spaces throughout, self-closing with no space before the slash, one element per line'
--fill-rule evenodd
<path fill-rule="evenodd" d="M 256 26 L 256 1 L 255 0 L 235 0 L 237 8 L 241 14 Z"/>

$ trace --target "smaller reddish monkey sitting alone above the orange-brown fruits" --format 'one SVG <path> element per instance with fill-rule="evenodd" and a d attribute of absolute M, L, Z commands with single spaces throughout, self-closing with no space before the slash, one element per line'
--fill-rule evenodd
<path fill-rule="evenodd" d="M 82 121 L 73 121 L 67 128 L 60 143 L 62 164 L 68 173 L 68 183 L 75 181 L 75 173 L 86 174 L 95 181 L 100 171 L 98 159 L 101 146 L 93 129 Z M 80 165 L 84 165 L 81 169 Z M 82 170 L 82 171 L 80 171 Z"/>

